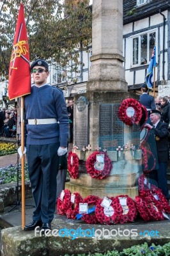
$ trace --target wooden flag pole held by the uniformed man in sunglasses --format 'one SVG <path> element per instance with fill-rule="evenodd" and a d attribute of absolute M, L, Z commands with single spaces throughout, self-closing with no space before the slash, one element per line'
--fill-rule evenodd
<path fill-rule="evenodd" d="M 21 158 L 21 188 L 22 188 L 22 230 L 24 230 L 24 226 L 26 224 L 26 213 L 25 213 L 25 172 L 24 172 L 24 164 L 25 164 L 25 156 L 24 152 L 24 97 L 20 98 L 20 114 L 21 114 L 21 124 L 20 124 L 20 131 L 21 131 L 21 151 L 22 151 L 22 158 Z"/>

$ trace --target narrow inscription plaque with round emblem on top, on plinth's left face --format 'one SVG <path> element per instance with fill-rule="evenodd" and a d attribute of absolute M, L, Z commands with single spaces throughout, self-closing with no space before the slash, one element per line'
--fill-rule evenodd
<path fill-rule="evenodd" d="M 79 97 L 75 108 L 75 145 L 79 149 L 88 145 L 88 100 Z"/>

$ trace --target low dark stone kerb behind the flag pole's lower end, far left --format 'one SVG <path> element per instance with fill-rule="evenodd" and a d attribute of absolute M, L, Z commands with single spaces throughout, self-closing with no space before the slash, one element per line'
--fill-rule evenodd
<path fill-rule="evenodd" d="M 25 182 L 25 195 L 26 198 L 32 196 L 30 182 Z M 21 200 L 21 184 L 19 182 L 19 200 Z M 17 182 L 10 182 L 1 184 L 0 189 L 0 212 L 4 212 L 4 207 L 13 204 L 17 201 Z"/>

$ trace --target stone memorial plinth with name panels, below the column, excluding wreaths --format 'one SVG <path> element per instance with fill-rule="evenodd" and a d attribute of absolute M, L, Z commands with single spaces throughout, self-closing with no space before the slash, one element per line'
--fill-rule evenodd
<path fill-rule="evenodd" d="M 134 95 L 122 92 L 88 92 L 86 97 L 81 96 L 86 102 L 81 112 L 77 111 L 80 96 L 75 97 L 75 123 L 78 116 L 79 127 L 85 125 L 86 128 L 83 128 L 82 136 L 76 134 L 75 128 L 75 143 L 78 149 L 73 152 L 80 161 L 79 178 L 66 182 L 66 188 L 72 193 L 79 192 L 83 198 L 88 195 L 97 195 L 101 198 L 128 195 L 134 198 L 138 195 L 137 179 L 142 173 L 139 125 L 128 126 L 118 117 L 120 102 L 127 97 Z M 84 131 L 88 132 L 88 126 L 89 134 L 84 134 Z M 88 143 L 84 145 L 86 141 L 91 145 L 91 150 L 86 148 Z M 132 145 L 135 147 L 134 150 Z M 118 150 L 119 147 L 121 150 Z M 96 148 L 100 148 L 101 151 L 107 150 L 112 161 L 111 174 L 102 180 L 90 177 L 86 170 L 86 160 Z"/>

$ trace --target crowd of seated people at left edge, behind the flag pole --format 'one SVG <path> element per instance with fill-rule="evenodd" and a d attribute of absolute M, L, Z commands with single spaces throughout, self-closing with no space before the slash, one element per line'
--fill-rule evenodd
<path fill-rule="evenodd" d="M 0 111 L 0 136 L 15 137 L 17 133 L 17 108 Z"/>

